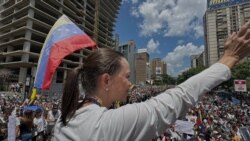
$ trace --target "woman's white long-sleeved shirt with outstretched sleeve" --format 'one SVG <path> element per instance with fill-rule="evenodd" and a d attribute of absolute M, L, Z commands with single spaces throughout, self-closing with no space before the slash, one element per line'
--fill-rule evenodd
<path fill-rule="evenodd" d="M 220 63 L 212 65 L 176 88 L 151 99 L 127 104 L 118 109 L 91 104 L 78 109 L 64 126 L 55 126 L 61 141 L 144 141 L 159 136 L 179 117 L 184 117 L 203 94 L 228 80 L 230 69 Z"/>

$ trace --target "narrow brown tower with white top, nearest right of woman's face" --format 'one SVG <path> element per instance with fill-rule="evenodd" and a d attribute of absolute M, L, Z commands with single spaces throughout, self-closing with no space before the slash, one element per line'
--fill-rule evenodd
<path fill-rule="evenodd" d="M 149 54 L 146 49 L 139 49 L 135 57 L 136 84 L 144 85 L 148 79 Z"/>

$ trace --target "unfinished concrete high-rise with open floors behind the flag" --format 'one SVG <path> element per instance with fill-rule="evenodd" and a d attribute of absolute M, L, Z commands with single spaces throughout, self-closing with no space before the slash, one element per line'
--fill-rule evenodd
<path fill-rule="evenodd" d="M 13 81 L 30 85 L 45 38 L 62 15 L 67 15 L 99 47 L 114 47 L 113 27 L 121 0 L 0 0 L 0 68 L 17 75 Z M 62 61 L 54 82 L 83 62 L 89 50 L 79 50 Z M 53 83 L 54 83 L 53 82 Z"/>

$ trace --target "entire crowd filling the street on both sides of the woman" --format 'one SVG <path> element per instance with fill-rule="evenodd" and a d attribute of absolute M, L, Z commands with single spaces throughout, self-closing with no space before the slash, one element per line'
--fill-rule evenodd
<path fill-rule="evenodd" d="M 134 87 L 126 102 L 114 105 L 119 108 L 125 104 L 139 103 L 156 96 L 166 89 L 165 86 Z M 59 118 L 60 100 L 37 99 L 35 109 L 29 109 L 28 100 L 24 102 L 21 96 L 12 97 L 1 95 L 0 100 L 0 140 L 8 136 L 9 116 L 16 113 L 16 138 L 19 140 L 51 140 L 53 127 Z M 33 105 L 33 106 L 34 106 Z M 250 106 L 246 103 L 235 103 L 228 97 L 215 93 L 207 94 L 195 107 L 189 110 L 180 121 L 191 123 L 185 127 L 189 132 L 178 129 L 178 122 L 166 128 L 155 141 L 241 141 L 240 128 L 250 128 Z M 187 126 L 187 125 L 185 125 Z M 191 127 L 192 126 L 192 127 Z"/>

